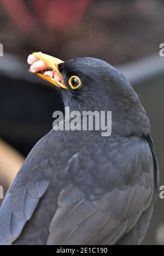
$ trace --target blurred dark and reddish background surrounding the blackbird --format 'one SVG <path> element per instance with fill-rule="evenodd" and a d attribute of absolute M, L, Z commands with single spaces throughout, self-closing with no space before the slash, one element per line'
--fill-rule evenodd
<path fill-rule="evenodd" d="M 91 56 L 118 67 L 143 98 L 164 185 L 164 1 L 0 0 L 0 185 L 5 191 L 34 144 L 62 110 L 60 95 L 27 72 L 28 54 L 62 60 Z M 2 200 L 0 200 L 0 205 Z M 143 245 L 164 245 L 164 200 L 158 199 Z"/>

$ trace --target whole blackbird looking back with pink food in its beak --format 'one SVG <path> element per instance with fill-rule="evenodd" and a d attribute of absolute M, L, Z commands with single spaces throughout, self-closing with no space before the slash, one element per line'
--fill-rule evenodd
<path fill-rule="evenodd" d="M 140 245 L 159 168 L 138 95 L 102 60 L 33 59 L 31 72 L 54 84 L 71 111 L 111 111 L 112 134 L 52 129 L 40 139 L 3 201 L 0 245 Z"/>

